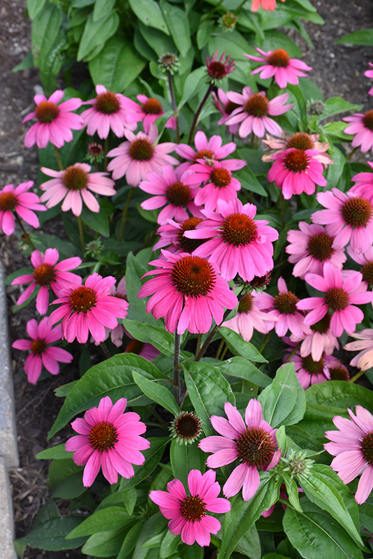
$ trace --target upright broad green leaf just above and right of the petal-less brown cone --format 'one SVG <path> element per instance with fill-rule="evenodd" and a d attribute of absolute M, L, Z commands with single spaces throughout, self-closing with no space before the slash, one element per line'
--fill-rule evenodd
<path fill-rule="evenodd" d="M 234 404 L 230 384 L 221 372 L 207 363 L 188 363 L 184 371 L 189 398 L 196 409 L 205 435 L 214 435 L 210 416 L 224 416 L 224 404 Z"/>

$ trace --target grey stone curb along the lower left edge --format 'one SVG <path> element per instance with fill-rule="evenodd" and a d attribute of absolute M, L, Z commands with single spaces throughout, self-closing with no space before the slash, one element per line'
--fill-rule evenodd
<path fill-rule="evenodd" d="M 14 394 L 8 340 L 6 293 L 0 261 L 0 557 L 16 559 L 13 547 L 13 504 L 8 470 L 17 467 L 17 430 L 15 427 Z"/>

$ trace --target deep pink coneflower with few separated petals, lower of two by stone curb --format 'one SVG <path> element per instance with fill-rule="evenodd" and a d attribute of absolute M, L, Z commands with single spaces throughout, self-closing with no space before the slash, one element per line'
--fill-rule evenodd
<path fill-rule="evenodd" d="M 73 361 L 73 356 L 66 349 L 48 347 L 48 344 L 53 344 L 57 340 L 61 340 L 62 337 L 61 324 L 51 328 L 48 326 L 48 320 L 48 317 L 44 317 L 39 324 L 36 319 L 29 320 L 26 329 L 32 341 L 15 340 L 12 344 L 15 349 L 29 349 L 31 351 L 24 362 L 24 371 L 31 384 L 36 384 L 41 375 L 42 365 L 51 375 L 58 375 L 58 362 L 71 363 Z"/>

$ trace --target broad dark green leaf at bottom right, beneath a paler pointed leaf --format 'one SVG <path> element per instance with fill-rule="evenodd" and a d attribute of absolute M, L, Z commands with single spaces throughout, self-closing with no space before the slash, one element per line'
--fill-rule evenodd
<path fill-rule="evenodd" d="M 305 559 L 363 559 L 356 543 L 326 511 L 302 497 L 303 512 L 286 507 L 284 530 Z"/>

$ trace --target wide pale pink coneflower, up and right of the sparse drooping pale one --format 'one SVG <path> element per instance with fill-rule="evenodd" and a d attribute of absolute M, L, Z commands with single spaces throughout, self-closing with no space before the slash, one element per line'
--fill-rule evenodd
<path fill-rule="evenodd" d="M 108 152 L 109 157 L 114 157 L 108 164 L 112 171 L 112 178 L 119 179 L 126 175 L 126 181 L 131 187 L 137 187 L 140 180 L 147 180 L 149 171 L 161 173 L 163 165 L 177 165 L 179 161 L 168 155 L 175 149 L 172 142 L 163 142 L 155 145 L 158 130 L 155 124 L 149 125 L 149 135 L 138 132 L 135 136 L 130 130 L 124 131 L 128 142 L 123 142 Z"/>

